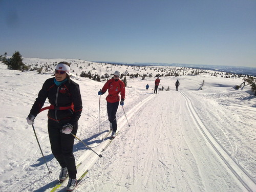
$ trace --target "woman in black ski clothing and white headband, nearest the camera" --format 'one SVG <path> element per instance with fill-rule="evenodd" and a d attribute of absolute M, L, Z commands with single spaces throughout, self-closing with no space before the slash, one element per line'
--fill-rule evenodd
<path fill-rule="evenodd" d="M 42 85 L 27 117 L 27 122 L 32 125 L 38 113 L 49 109 L 48 134 L 52 153 L 61 166 L 59 180 L 63 181 L 69 175 L 67 190 L 71 191 L 76 186 L 77 170 L 73 155 L 75 137 L 70 133 L 74 135 L 77 133 L 82 100 L 79 85 L 70 79 L 69 71 L 70 63 L 58 63 L 54 77 L 47 79 Z M 46 98 L 51 105 L 42 108 Z"/>

